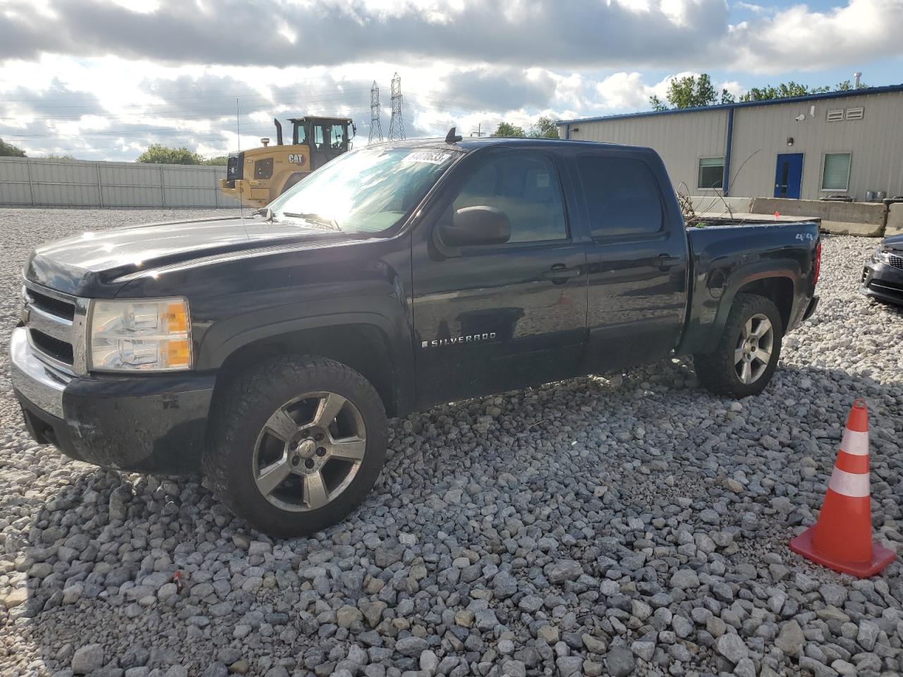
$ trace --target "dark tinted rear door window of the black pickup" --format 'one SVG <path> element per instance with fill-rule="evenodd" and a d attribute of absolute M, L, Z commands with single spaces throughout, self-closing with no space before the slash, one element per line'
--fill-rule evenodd
<path fill-rule="evenodd" d="M 650 235 L 662 229 L 661 194 L 646 162 L 583 155 L 577 163 L 593 237 Z"/>

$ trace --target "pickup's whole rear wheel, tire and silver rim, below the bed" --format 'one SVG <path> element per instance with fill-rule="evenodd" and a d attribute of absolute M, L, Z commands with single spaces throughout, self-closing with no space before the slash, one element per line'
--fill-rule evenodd
<path fill-rule="evenodd" d="M 756 294 L 737 294 L 718 347 L 694 355 L 696 376 L 716 394 L 759 394 L 777 369 L 784 328 L 777 306 Z"/>

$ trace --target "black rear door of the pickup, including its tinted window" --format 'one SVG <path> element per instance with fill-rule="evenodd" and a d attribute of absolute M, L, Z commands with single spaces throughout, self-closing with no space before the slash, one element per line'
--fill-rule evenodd
<path fill-rule="evenodd" d="M 687 244 L 683 219 L 655 153 L 578 153 L 591 234 L 587 366 L 630 366 L 666 357 L 684 327 Z"/>

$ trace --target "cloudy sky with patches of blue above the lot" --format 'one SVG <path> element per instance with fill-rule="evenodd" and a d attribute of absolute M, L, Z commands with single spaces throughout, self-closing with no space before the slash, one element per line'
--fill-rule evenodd
<path fill-rule="evenodd" d="M 312 21 L 312 16 L 317 21 Z M 261 36 L 268 36 L 263 40 Z M 648 109 L 709 73 L 740 95 L 903 81 L 903 0 L 0 0 L 0 137 L 33 156 L 204 155 L 272 118 L 351 116 L 402 78 L 408 135 Z"/>

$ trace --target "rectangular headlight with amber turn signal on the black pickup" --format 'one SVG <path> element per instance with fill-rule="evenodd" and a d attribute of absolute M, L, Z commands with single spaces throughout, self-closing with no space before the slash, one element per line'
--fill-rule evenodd
<path fill-rule="evenodd" d="M 88 355 L 97 371 L 191 369 L 188 301 L 94 301 Z"/>

